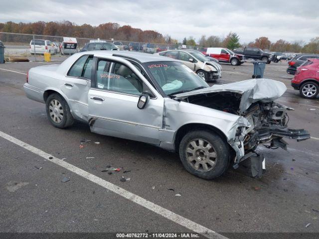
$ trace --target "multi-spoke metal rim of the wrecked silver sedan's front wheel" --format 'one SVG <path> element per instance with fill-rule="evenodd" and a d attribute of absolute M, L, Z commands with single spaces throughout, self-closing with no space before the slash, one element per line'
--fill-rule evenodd
<path fill-rule="evenodd" d="M 208 172 L 216 165 L 217 155 L 214 147 L 205 139 L 191 140 L 186 148 L 187 163 L 197 171 Z"/>

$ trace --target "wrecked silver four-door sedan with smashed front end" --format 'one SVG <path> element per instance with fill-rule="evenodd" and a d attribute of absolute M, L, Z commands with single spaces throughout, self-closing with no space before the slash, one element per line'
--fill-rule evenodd
<path fill-rule="evenodd" d="M 259 144 L 285 148 L 282 137 L 310 137 L 288 128 L 292 109 L 273 102 L 286 91 L 282 82 L 209 87 L 180 61 L 154 54 L 74 54 L 60 65 L 31 68 L 23 88 L 29 99 L 45 103 L 55 127 L 77 119 L 95 133 L 175 151 L 188 172 L 204 179 L 243 160 L 251 160 L 252 176 L 261 176 Z"/>

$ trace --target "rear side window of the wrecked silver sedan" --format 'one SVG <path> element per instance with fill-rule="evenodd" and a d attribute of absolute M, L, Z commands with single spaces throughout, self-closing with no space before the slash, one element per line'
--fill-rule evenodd
<path fill-rule="evenodd" d="M 67 76 L 91 79 L 93 56 L 81 56 L 70 68 Z"/>

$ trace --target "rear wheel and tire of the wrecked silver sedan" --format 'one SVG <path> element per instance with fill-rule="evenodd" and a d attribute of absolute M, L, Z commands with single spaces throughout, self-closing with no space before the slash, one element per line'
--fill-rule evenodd
<path fill-rule="evenodd" d="M 57 93 L 49 95 L 45 106 L 46 115 L 54 127 L 65 128 L 73 124 L 70 108 L 61 95 Z"/>

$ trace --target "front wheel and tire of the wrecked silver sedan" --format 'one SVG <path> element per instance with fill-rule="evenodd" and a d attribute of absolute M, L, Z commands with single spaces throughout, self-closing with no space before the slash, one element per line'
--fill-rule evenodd
<path fill-rule="evenodd" d="M 194 130 L 180 141 L 179 157 L 189 173 L 203 179 L 213 179 L 228 168 L 229 148 L 227 142 L 216 133 Z"/>

